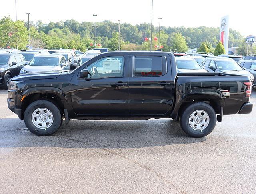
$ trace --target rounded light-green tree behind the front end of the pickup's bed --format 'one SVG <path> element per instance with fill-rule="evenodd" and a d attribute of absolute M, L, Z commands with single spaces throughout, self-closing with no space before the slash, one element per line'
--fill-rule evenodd
<path fill-rule="evenodd" d="M 185 38 L 180 33 L 172 33 L 170 36 L 170 49 L 176 52 L 186 52 L 188 46 Z"/>

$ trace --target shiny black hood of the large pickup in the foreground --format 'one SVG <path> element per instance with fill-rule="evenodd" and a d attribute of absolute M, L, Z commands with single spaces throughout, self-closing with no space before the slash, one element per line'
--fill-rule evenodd
<path fill-rule="evenodd" d="M 61 75 L 64 71 L 52 71 L 52 72 L 37 72 L 37 73 L 28 73 L 20 74 L 12 78 L 13 81 L 20 80 L 42 80 L 42 79 L 54 79 Z"/>

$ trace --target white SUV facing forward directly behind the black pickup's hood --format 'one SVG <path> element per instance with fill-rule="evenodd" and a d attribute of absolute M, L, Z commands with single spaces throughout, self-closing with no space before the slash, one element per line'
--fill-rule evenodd
<path fill-rule="evenodd" d="M 66 59 L 62 55 L 38 55 L 20 70 L 20 74 L 60 71 L 63 70 L 65 66 Z"/>

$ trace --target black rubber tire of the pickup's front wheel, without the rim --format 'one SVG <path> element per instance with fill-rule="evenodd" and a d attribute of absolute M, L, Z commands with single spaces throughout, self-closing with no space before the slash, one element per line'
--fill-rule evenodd
<path fill-rule="evenodd" d="M 50 110 L 52 113 L 53 121 L 50 127 L 42 129 L 38 128 L 32 120 L 32 114 L 34 113 L 35 110 L 38 108 L 46 108 Z M 60 114 L 60 110 L 58 107 L 53 104 L 52 102 L 49 102 L 48 100 L 37 100 L 35 102 L 32 102 L 28 107 L 26 108 L 24 112 L 24 122 L 30 130 L 30 132 L 38 135 L 38 136 L 47 136 L 50 134 L 55 133 L 61 126 L 62 124 L 62 116 Z"/>

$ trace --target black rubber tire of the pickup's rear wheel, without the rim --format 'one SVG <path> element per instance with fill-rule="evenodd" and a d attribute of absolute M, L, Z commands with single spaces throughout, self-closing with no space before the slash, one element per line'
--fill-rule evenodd
<path fill-rule="evenodd" d="M 196 124 L 196 126 L 198 125 L 198 127 L 202 127 L 204 129 L 200 130 L 196 130 L 194 128 L 192 128 L 193 124 L 192 121 L 193 119 L 190 120 L 190 116 L 192 116 L 192 113 L 194 113 L 195 111 L 199 111 L 199 110 L 203 110 L 204 112 L 206 112 L 208 114 L 208 118 L 209 120 L 207 121 L 206 118 L 206 122 L 208 122 L 208 125 L 206 124 L 205 126 L 202 124 Z M 197 113 L 195 113 L 197 116 Z M 204 113 L 202 113 L 204 115 Z M 203 119 L 204 121 L 204 119 Z M 199 121 L 200 122 L 200 121 Z M 190 123 L 192 126 L 190 126 Z M 212 108 L 212 106 L 210 106 L 209 104 L 206 104 L 204 102 L 196 102 L 194 104 L 191 104 L 190 106 L 188 106 L 188 108 L 186 108 L 180 118 L 180 126 L 182 128 L 182 130 L 188 134 L 189 136 L 195 137 L 195 138 L 200 138 L 200 137 L 204 137 L 207 136 L 208 134 L 210 134 L 212 132 L 212 130 L 214 129 L 216 125 L 216 113 L 214 111 L 214 109 Z"/>

